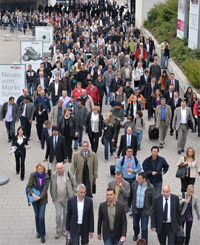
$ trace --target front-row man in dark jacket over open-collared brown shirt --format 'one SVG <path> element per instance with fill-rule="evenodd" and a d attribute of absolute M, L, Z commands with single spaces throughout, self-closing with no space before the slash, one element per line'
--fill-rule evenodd
<path fill-rule="evenodd" d="M 126 241 L 127 219 L 123 204 L 115 201 L 115 189 L 107 189 L 107 201 L 99 206 L 97 238 L 101 240 L 103 226 L 104 244 L 117 244 Z M 113 215 L 114 211 L 114 215 Z M 113 217 L 114 216 L 114 217 Z M 103 223 L 103 224 L 102 224 Z"/>

